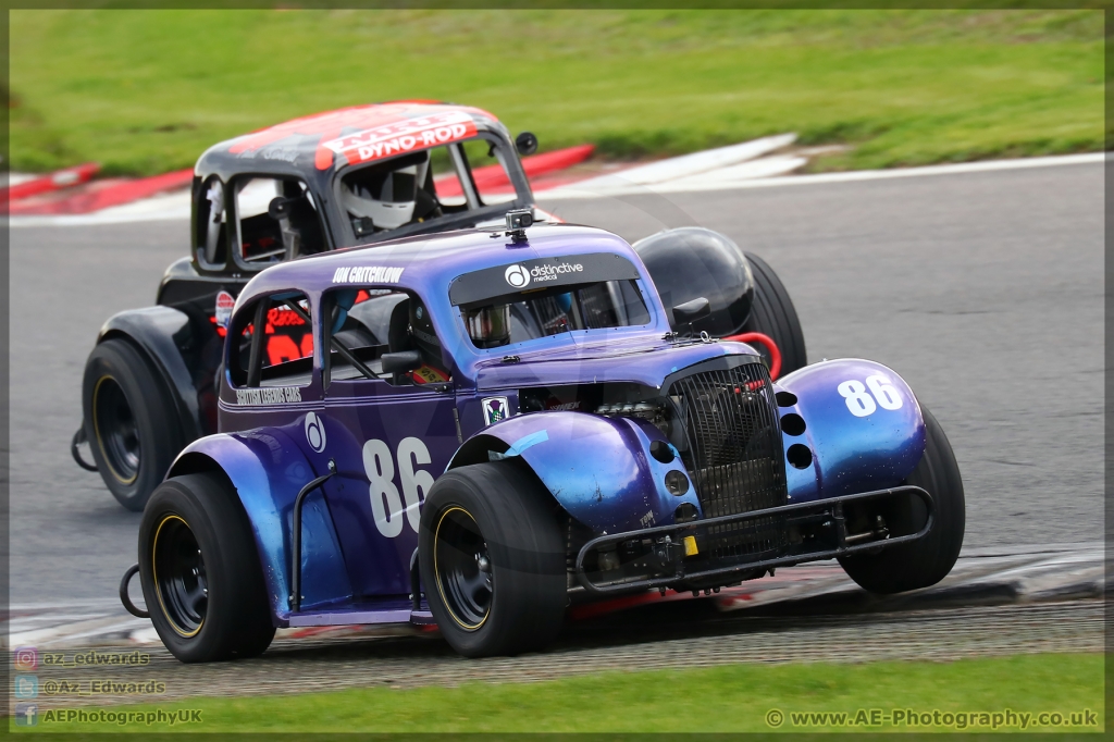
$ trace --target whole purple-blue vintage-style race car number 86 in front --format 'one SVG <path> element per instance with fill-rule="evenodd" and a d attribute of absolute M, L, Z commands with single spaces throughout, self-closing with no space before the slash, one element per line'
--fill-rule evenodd
<path fill-rule="evenodd" d="M 947 575 L 962 484 L 909 387 L 858 359 L 774 383 L 694 329 L 709 306 L 667 310 L 622 238 L 528 211 L 267 269 L 228 324 L 222 432 L 152 496 L 125 605 L 146 615 L 138 572 L 184 662 L 405 622 L 480 656 L 545 647 L 576 601 L 833 557 L 877 593 Z M 262 329 L 295 320 L 312 343 L 268 364 Z"/>

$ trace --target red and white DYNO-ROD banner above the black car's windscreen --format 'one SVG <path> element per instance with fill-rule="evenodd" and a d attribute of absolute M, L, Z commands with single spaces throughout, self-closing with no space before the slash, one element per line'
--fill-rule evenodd
<path fill-rule="evenodd" d="M 458 141 L 476 134 L 471 116 L 461 110 L 450 110 L 348 134 L 323 141 L 321 146 L 343 155 L 350 165 L 355 165 Z"/>

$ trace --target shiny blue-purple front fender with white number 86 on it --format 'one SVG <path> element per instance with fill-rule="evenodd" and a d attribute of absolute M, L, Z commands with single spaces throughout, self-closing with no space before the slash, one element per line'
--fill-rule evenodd
<path fill-rule="evenodd" d="M 925 452 L 925 419 L 909 385 L 893 370 L 861 359 L 823 361 L 782 377 L 776 389 L 797 398 L 780 407 L 804 421 L 798 436 L 783 432 L 790 502 L 893 487 L 912 473 Z M 781 401 L 789 401 L 780 394 Z M 811 461 L 793 465 L 794 446 Z M 799 460 L 800 462 L 800 460 Z"/>

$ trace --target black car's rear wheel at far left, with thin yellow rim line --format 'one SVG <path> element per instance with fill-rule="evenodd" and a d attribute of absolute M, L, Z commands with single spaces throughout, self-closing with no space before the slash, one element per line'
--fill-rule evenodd
<path fill-rule="evenodd" d="M 85 364 L 81 407 L 101 479 L 120 505 L 143 510 L 184 445 L 166 384 L 130 342 L 106 340 Z"/>

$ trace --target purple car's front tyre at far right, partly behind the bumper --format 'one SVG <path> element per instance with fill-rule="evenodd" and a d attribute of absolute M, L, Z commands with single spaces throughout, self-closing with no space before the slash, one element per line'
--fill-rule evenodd
<path fill-rule="evenodd" d="M 920 411 L 925 416 L 925 455 L 905 484 L 932 496 L 936 523 L 920 540 L 878 554 L 840 558 L 848 576 L 871 593 L 905 593 L 937 584 L 951 572 L 964 545 L 967 515 L 959 465 L 944 428 L 928 408 L 921 406 Z M 925 523 L 926 510 L 919 498 L 902 501 L 905 507 L 892 508 L 886 516 L 893 536 L 915 534 Z"/>

